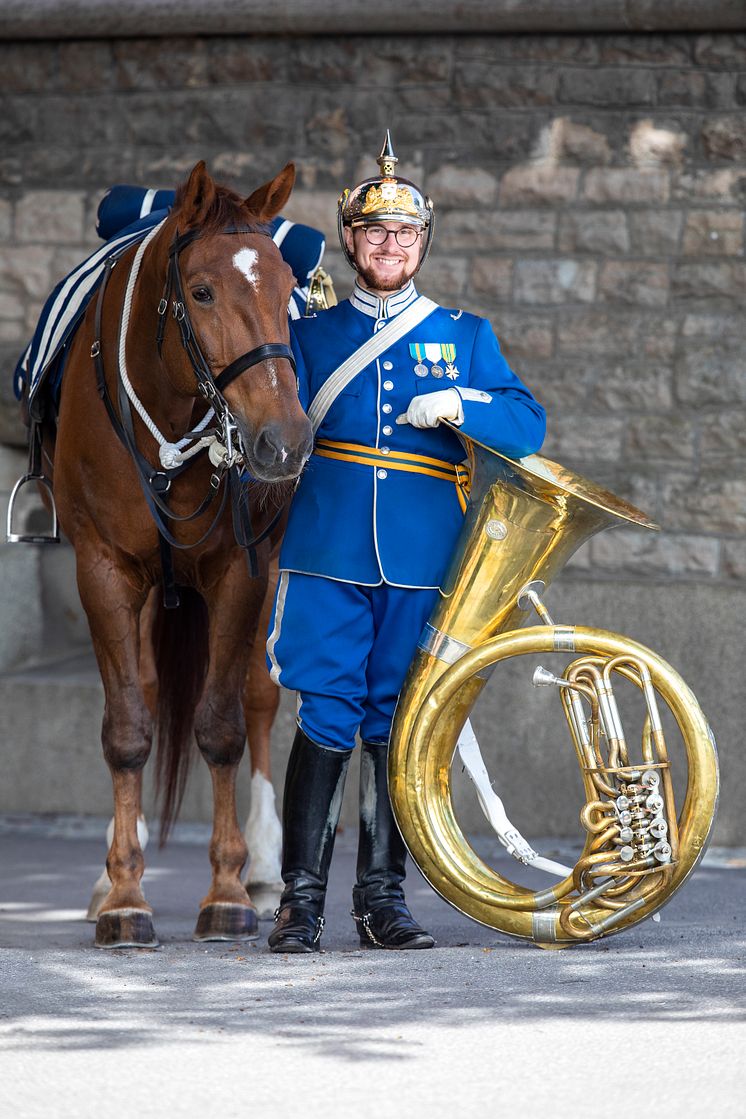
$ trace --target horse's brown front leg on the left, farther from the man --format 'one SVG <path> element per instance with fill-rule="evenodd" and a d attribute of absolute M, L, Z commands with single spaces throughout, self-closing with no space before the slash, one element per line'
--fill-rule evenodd
<path fill-rule="evenodd" d="M 144 859 L 138 836 L 142 770 L 153 726 L 138 677 L 144 594 L 101 554 L 87 562 L 78 553 L 78 590 L 104 685 L 102 745 L 114 787 L 114 830 L 106 858 L 111 888 L 101 904 L 95 943 L 152 948 L 158 940 L 140 885 Z"/>

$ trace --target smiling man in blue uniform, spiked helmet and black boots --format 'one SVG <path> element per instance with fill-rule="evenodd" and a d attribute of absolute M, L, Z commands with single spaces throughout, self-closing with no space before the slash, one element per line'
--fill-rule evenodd
<path fill-rule="evenodd" d="M 293 498 L 267 641 L 273 678 L 298 692 L 283 805 L 283 881 L 270 947 L 318 948 L 344 777 L 356 734 L 360 838 L 352 916 L 360 941 L 431 948 L 404 897 L 404 843 L 387 789 L 397 696 L 438 594 L 464 509 L 453 426 L 520 457 L 544 408 L 500 352 L 489 322 L 418 295 L 433 234 L 429 199 L 380 173 L 339 201 L 357 271 L 352 294 L 292 325 L 314 452 Z M 444 421 L 450 425 L 446 426 Z"/>

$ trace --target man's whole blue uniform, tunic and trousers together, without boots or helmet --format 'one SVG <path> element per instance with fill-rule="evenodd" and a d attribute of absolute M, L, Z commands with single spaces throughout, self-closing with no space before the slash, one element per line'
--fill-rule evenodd
<path fill-rule="evenodd" d="M 293 322 L 303 406 L 416 299 L 412 282 L 385 299 L 356 284 L 349 300 Z M 396 423 L 414 396 L 444 388 L 457 391 L 474 439 L 513 457 L 541 445 L 544 408 L 489 322 L 436 308 L 334 399 L 293 498 L 267 661 L 298 690 L 304 732 L 330 749 L 351 750 L 358 731 L 387 741 L 463 524 L 457 486 L 443 477 L 464 459 L 459 438 Z"/>

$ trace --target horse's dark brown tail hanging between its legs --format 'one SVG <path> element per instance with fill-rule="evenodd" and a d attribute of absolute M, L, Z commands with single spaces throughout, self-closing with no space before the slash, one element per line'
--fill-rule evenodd
<path fill-rule="evenodd" d="M 193 754 L 195 708 L 208 664 L 208 614 L 201 594 L 179 587 L 180 605 L 166 610 L 159 595 L 153 620 L 158 669 L 155 799 L 160 803 L 161 846 L 179 815 Z"/>

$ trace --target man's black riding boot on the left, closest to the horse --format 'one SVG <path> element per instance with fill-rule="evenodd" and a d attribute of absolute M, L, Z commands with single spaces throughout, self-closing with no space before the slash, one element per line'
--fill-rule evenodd
<path fill-rule="evenodd" d="M 299 728 L 282 805 L 285 888 L 270 933 L 273 952 L 312 952 L 323 930 L 329 864 L 350 755 L 318 745 Z"/>

